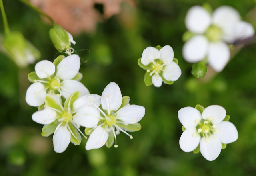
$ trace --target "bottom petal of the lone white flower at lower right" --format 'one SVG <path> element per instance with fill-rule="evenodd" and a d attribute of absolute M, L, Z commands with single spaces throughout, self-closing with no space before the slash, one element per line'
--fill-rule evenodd
<path fill-rule="evenodd" d="M 200 140 L 200 152 L 208 161 L 215 160 L 221 151 L 221 142 L 218 137 L 209 137 L 210 141 L 206 141 L 204 137 Z"/>

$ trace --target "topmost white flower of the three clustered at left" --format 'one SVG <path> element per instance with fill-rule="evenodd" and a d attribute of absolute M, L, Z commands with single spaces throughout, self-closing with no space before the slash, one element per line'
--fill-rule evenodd
<path fill-rule="evenodd" d="M 44 104 L 46 94 L 59 93 L 68 98 L 73 92 L 79 91 L 82 95 L 89 94 L 88 89 L 79 81 L 72 80 L 79 71 L 80 58 L 78 55 L 70 55 L 64 58 L 55 67 L 54 63 L 42 60 L 35 66 L 36 78 L 26 92 L 26 102 L 30 106 Z"/>

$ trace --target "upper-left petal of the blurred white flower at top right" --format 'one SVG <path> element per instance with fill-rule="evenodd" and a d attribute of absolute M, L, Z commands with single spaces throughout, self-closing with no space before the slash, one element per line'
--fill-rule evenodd
<path fill-rule="evenodd" d="M 185 17 L 187 29 L 193 33 L 204 33 L 211 23 L 210 13 L 202 6 L 191 7 Z"/>

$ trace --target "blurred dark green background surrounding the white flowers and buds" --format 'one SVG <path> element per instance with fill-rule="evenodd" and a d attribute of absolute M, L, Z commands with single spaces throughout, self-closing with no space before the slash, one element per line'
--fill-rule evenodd
<path fill-rule="evenodd" d="M 70 0 L 72 1 L 72 0 Z M 65 1 L 64 1 L 65 2 Z M 63 3 L 64 3 L 63 2 Z M 0 175 L 22 176 L 249 176 L 256 173 L 256 44 L 240 50 L 221 73 L 212 78 L 191 75 L 191 64 L 182 58 L 184 17 L 196 4 L 208 2 L 213 9 L 229 5 L 256 28 L 254 0 L 134 0 L 121 4 L 121 12 L 103 18 L 104 4 L 94 5 L 102 16 L 93 32 L 74 35 L 73 45 L 80 55 L 82 83 L 90 93 L 101 95 L 109 82 L 116 82 L 130 104 L 142 105 L 146 114 L 142 129 L 117 136 L 118 148 L 85 150 L 72 143 L 63 153 L 55 153 L 52 135 L 42 137 L 43 125 L 31 119 L 37 108 L 25 102 L 30 86 L 27 74 L 0 53 Z M 12 31 L 21 31 L 41 52 L 41 59 L 54 61 L 60 53 L 50 41 L 51 28 L 38 13 L 18 0 L 4 0 Z M 60 12 L 66 13 L 66 12 Z M 1 38 L 4 35 L 2 21 Z M 145 86 L 145 70 L 137 65 L 148 46 L 170 45 L 182 70 L 173 85 Z M 223 106 L 239 137 L 222 149 L 212 162 L 200 153 L 185 153 L 179 147 L 182 134 L 177 112 L 185 106 Z M 83 131 L 84 128 L 81 127 Z"/>

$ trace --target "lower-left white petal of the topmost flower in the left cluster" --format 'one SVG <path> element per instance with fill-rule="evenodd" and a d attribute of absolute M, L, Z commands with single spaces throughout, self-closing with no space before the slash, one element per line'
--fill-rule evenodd
<path fill-rule="evenodd" d="M 40 82 L 31 84 L 26 92 L 26 102 L 30 106 L 40 106 L 44 104 L 46 90 Z"/>

